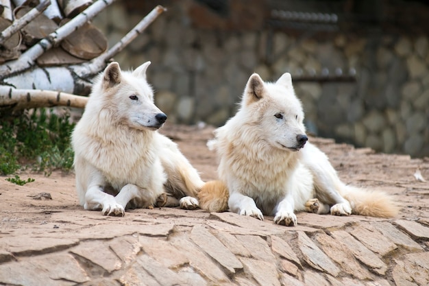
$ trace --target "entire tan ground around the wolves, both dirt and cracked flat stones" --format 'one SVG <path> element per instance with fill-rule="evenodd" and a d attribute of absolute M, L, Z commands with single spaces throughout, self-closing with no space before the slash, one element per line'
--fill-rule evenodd
<path fill-rule="evenodd" d="M 201 171 L 216 178 L 206 148 L 213 128 L 165 126 Z M 310 139 L 341 178 L 382 189 L 393 219 L 299 213 L 298 226 L 234 213 L 137 209 L 125 217 L 84 211 L 73 174 L 0 178 L 0 285 L 429 285 L 429 160 Z M 49 193 L 49 195 L 42 193 Z"/>

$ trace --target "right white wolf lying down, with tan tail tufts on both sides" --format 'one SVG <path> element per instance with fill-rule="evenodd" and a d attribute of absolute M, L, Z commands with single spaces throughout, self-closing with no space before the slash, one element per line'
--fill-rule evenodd
<path fill-rule="evenodd" d="M 307 143 L 303 120 L 289 73 L 275 83 L 253 74 L 238 112 L 208 142 L 219 156 L 220 181 L 201 189 L 201 208 L 274 215 L 286 226 L 297 224 L 294 211 L 394 216 L 397 206 L 388 195 L 341 182 L 326 154 Z"/>

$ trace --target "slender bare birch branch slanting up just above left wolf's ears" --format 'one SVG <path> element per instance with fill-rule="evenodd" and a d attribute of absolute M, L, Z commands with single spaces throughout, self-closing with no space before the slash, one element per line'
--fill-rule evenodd
<path fill-rule="evenodd" d="M 119 42 L 108 49 L 106 53 L 102 53 L 101 56 L 85 62 L 79 65 L 73 65 L 70 67 L 76 75 L 81 78 L 90 78 L 93 75 L 96 75 L 106 67 L 106 62 L 108 62 L 114 55 L 122 51 L 128 44 L 134 40 L 139 34 L 141 34 L 155 19 L 162 14 L 162 12 L 167 11 L 166 8 L 162 5 L 157 5 L 149 14 L 145 16 L 130 32 L 128 32 Z"/>

